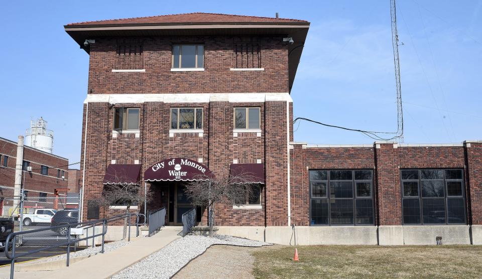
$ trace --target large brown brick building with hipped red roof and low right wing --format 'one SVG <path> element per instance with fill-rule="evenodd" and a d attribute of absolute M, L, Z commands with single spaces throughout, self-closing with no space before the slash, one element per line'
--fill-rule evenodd
<path fill-rule="evenodd" d="M 82 218 L 104 185 L 145 183 L 146 210 L 165 206 L 177 225 L 196 173 L 250 169 L 259 198 L 217 205 L 220 232 L 288 243 L 295 224 L 300 244 L 482 243 L 482 143 L 294 142 L 290 91 L 308 28 L 205 13 L 66 25 L 90 59 Z"/>

